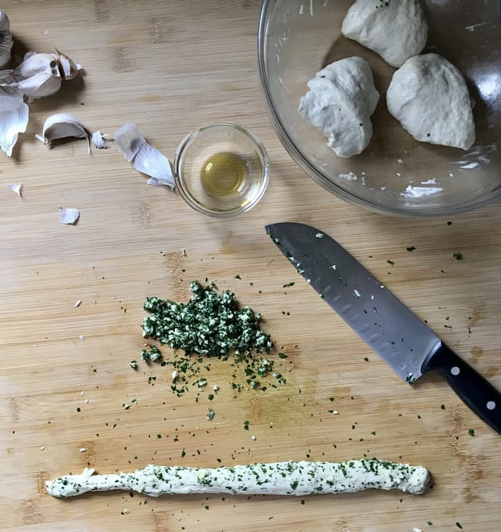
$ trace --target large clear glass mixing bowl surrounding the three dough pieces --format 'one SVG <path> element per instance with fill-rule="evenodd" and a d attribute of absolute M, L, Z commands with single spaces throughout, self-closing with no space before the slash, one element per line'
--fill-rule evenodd
<path fill-rule="evenodd" d="M 375 211 L 421 216 L 468 211 L 501 198 L 501 12 L 499 0 L 424 0 L 426 51 L 454 63 L 475 101 L 477 140 L 468 150 L 419 143 L 386 108 L 395 69 L 341 33 L 353 0 L 264 0 L 259 65 L 269 116 L 285 149 L 315 181 Z M 306 83 L 349 56 L 371 65 L 381 99 L 365 151 L 340 159 L 297 109 Z"/>

